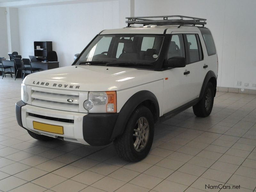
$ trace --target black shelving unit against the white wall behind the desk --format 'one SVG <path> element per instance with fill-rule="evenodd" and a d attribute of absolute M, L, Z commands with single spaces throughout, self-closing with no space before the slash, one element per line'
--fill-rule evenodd
<path fill-rule="evenodd" d="M 40 46 L 40 49 L 36 49 L 36 46 Z M 46 60 L 49 51 L 52 51 L 52 41 L 34 41 L 34 53 L 38 61 Z"/>

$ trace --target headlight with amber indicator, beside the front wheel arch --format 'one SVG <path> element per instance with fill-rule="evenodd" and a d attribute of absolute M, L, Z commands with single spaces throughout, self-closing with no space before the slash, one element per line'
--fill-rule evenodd
<path fill-rule="evenodd" d="M 116 113 L 116 91 L 89 92 L 84 108 L 90 113 Z"/>

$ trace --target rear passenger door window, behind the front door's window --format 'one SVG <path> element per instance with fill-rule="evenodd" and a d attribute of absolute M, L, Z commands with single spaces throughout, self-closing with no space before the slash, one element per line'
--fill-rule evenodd
<path fill-rule="evenodd" d="M 199 50 L 196 40 L 196 34 L 186 34 L 187 37 L 187 47 L 188 47 L 188 56 L 189 63 L 194 63 L 199 61 Z"/>

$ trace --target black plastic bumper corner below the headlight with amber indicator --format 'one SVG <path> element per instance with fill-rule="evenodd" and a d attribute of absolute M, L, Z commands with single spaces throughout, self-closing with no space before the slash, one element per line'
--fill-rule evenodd
<path fill-rule="evenodd" d="M 92 146 L 111 143 L 110 139 L 118 113 L 89 113 L 83 118 L 84 140 Z"/>

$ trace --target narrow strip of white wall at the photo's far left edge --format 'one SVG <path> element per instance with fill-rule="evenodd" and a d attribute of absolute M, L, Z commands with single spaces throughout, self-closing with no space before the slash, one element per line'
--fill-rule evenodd
<path fill-rule="evenodd" d="M 8 56 L 8 36 L 7 36 L 7 21 L 6 9 L 0 7 L 0 57 L 9 58 Z"/>

